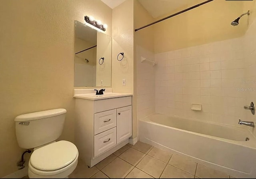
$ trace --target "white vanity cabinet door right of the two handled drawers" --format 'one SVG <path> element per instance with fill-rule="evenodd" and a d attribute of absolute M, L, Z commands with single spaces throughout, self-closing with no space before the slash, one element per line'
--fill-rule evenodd
<path fill-rule="evenodd" d="M 116 143 L 132 136 L 132 106 L 116 109 Z"/>

